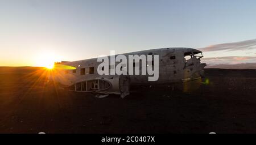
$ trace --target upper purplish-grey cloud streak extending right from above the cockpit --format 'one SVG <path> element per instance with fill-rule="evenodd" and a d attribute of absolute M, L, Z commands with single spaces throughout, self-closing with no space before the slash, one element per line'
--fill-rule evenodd
<path fill-rule="evenodd" d="M 218 50 L 246 50 L 256 49 L 256 39 L 245 40 L 240 42 L 229 42 L 223 44 L 210 45 L 205 48 L 200 48 L 203 52 L 213 52 Z"/>

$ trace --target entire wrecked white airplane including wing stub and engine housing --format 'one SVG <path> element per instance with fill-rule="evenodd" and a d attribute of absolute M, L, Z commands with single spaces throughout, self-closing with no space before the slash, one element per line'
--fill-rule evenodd
<path fill-rule="evenodd" d="M 130 94 L 130 86 L 175 85 L 199 80 L 204 76 L 204 67 L 206 66 L 200 61 L 200 58 L 203 57 L 202 52 L 192 48 L 151 49 L 119 55 L 127 58 L 129 56 L 137 57 L 131 61 L 129 58 L 128 63 L 126 59 L 122 65 L 118 65 L 121 62 L 105 62 L 102 65 L 102 62 L 98 62 L 98 58 L 56 63 L 52 79 L 58 82 L 62 86 L 61 88 L 69 91 L 103 94 L 97 95 L 98 97 L 116 94 L 123 98 Z M 151 57 L 151 59 L 143 62 L 140 57 L 143 55 Z M 117 56 L 110 55 L 106 58 L 110 58 L 111 61 L 111 57 L 117 58 Z M 123 59 L 122 62 L 124 62 Z M 153 73 L 143 73 L 143 70 L 146 70 L 143 64 L 147 71 L 150 71 L 148 68 L 151 68 Z M 121 75 L 117 72 L 113 74 L 112 70 L 117 69 L 117 66 L 123 72 Z M 135 70 L 131 70 L 133 67 Z M 136 69 L 141 73 L 138 74 Z M 111 73 L 102 74 L 98 72 L 99 70 Z M 156 79 L 150 81 L 149 78 L 152 75 Z"/>

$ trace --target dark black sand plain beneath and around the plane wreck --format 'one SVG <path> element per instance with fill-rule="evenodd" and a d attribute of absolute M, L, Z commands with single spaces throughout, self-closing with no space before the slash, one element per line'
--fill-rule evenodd
<path fill-rule="evenodd" d="M 0 133 L 256 133 L 256 70 L 205 69 L 194 92 L 125 99 L 56 89 L 40 71 L 0 74 Z"/>

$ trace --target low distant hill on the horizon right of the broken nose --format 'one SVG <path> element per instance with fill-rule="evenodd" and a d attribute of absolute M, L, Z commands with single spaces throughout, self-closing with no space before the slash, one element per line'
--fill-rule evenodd
<path fill-rule="evenodd" d="M 216 69 L 256 69 L 256 63 L 239 63 L 235 65 L 207 65 L 205 68 L 216 68 Z"/>

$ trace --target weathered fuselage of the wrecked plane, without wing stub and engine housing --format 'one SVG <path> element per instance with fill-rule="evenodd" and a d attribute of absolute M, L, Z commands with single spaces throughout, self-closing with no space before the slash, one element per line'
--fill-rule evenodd
<path fill-rule="evenodd" d="M 156 81 L 148 81 L 148 76 L 150 75 L 141 75 L 141 74 L 129 75 L 130 85 L 171 84 L 171 83 L 182 83 L 182 82 L 189 82 L 195 79 L 201 79 L 201 76 L 203 75 L 203 71 L 204 71 L 203 69 L 205 66 L 205 63 L 200 62 L 200 58 L 203 57 L 201 54 L 201 51 L 192 49 L 192 48 L 151 49 L 151 50 L 143 50 L 139 52 L 125 53 L 123 55 L 126 57 L 129 57 L 129 55 L 138 55 L 138 56 L 158 55 L 159 57 L 158 59 L 158 62 L 159 62 L 158 75 L 159 76 Z M 76 86 L 76 83 L 79 83 L 80 85 L 81 82 L 83 81 L 85 82 L 86 80 L 93 80 L 96 78 L 99 79 L 99 78 L 104 78 L 108 76 L 109 77 L 116 76 L 116 75 L 99 75 L 97 72 L 97 69 L 100 63 L 102 62 L 98 62 L 97 58 L 61 63 L 59 65 L 71 66 L 75 69 L 57 70 L 58 73 L 55 75 L 55 80 L 60 84 L 62 84 L 63 86 L 72 86 L 72 85 Z M 134 63 L 133 64 L 134 67 L 139 66 L 139 70 L 142 69 L 141 62 L 139 60 L 133 63 Z M 117 64 L 118 62 L 115 62 L 114 66 L 109 65 L 109 68 L 104 68 L 104 69 L 111 69 L 112 67 L 115 67 Z M 129 71 L 129 67 L 127 67 L 127 71 Z M 95 84 L 94 84 L 94 87 L 95 87 Z M 74 88 L 74 89 L 75 91 L 77 91 L 77 88 Z M 79 89 L 81 91 L 83 90 L 80 87 Z M 84 90 L 88 91 L 88 88 L 85 88 Z"/>

